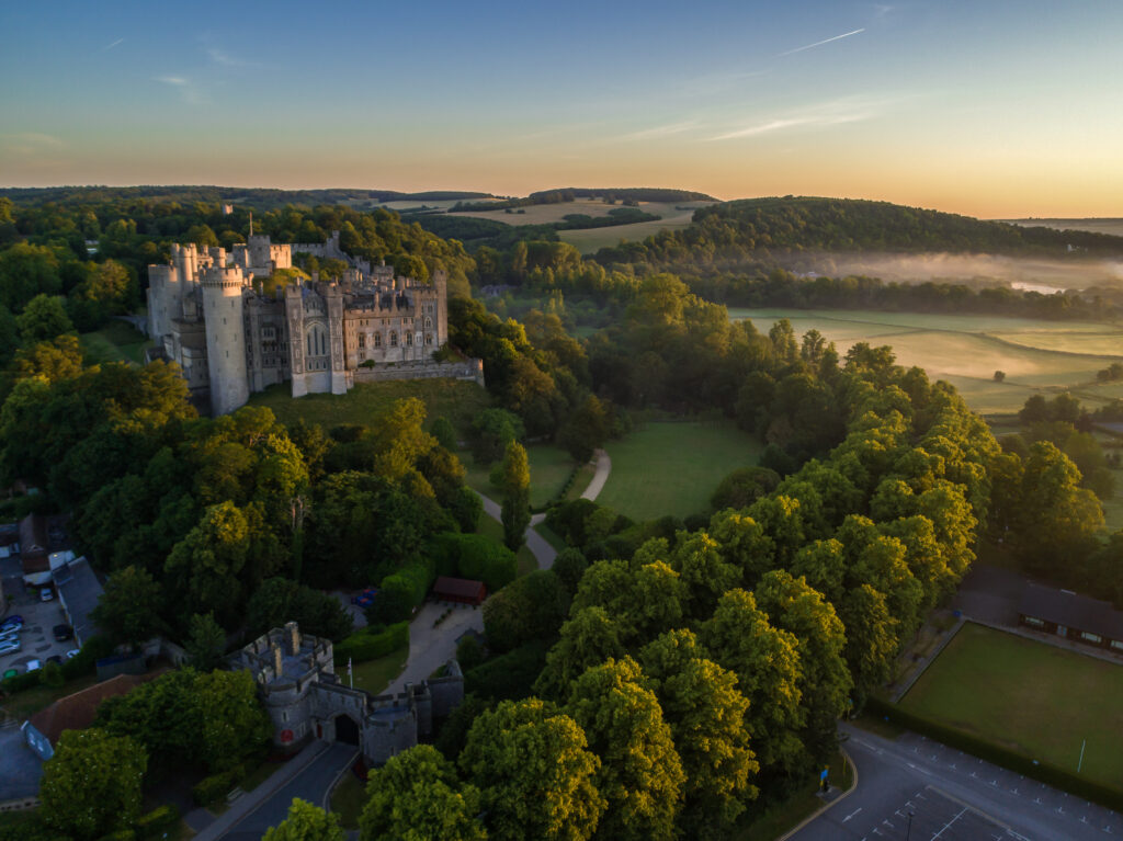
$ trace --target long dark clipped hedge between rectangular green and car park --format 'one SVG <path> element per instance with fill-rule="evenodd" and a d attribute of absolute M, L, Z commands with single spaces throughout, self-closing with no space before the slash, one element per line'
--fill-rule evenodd
<path fill-rule="evenodd" d="M 874 715 L 882 715 L 888 721 L 901 724 L 921 735 L 926 735 L 951 748 L 970 753 L 979 759 L 985 759 L 988 762 L 994 762 L 1003 768 L 1035 779 L 1039 783 L 1054 786 L 1086 801 L 1098 803 L 1107 808 L 1115 811 L 1123 810 L 1123 790 L 1119 788 L 1093 783 L 1089 779 L 1078 777 L 1074 773 L 1049 762 L 1035 761 L 1021 753 L 1015 753 L 1007 748 L 1003 748 L 1001 744 L 995 744 L 986 739 L 966 733 L 962 730 L 957 730 L 938 721 L 916 715 L 880 698 L 870 698 L 867 701 L 866 711 Z"/>

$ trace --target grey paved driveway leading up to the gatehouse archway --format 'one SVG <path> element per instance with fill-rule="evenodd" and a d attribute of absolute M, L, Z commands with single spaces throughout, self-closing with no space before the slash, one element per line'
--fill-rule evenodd
<path fill-rule="evenodd" d="M 193 841 L 261 841 L 265 830 L 287 816 L 294 797 L 327 806 L 325 799 L 331 787 L 357 756 L 358 748 L 353 744 L 313 741 L 284 768 L 235 801 Z"/>

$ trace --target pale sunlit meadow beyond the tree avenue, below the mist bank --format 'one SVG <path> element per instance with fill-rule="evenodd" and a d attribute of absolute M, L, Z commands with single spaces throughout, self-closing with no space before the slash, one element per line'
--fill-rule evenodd
<path fill-rule="evenodd" d="M 787 318 L 797 335 L 819 330 L 839 353 L 857 341 L 891 345 L 901 365 L 947 380 L 983 413 L 1017 411 L 1034 393 L 1072 391 L 1095 408 L 1123 393 L 1096 383 L 1096 372 L 1123 360 L 1123 327 L 1093 321 L 1043 321 L 995 316 L 939 316 L 865 310 L 730 309 L 761 332 Z M 1071 340 L 1077 350 L 1062 349 Z M 1114 354 L 1112 354 L 1114 350 Z M 994 372 L 1006 378 L 994 381 Z"/>

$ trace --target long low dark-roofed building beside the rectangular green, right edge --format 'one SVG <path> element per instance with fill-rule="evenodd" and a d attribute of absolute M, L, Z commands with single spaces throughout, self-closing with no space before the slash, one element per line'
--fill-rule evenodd
<path fill-rule="evenodd" d="M 1026 628 L 1123 653 L 1123 612 L 1110 602 L 1026 582 L 1017 613 Z"/>

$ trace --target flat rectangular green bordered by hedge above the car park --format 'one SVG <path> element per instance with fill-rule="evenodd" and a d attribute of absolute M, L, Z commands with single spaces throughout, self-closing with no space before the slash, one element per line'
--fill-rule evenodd
<path fill-rule="evenodd" d="M 968 623 L 901 702 L 1083 776 L 1123 780 L 1123 666 Z"/>

